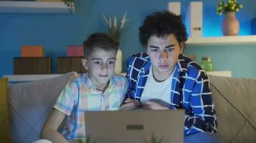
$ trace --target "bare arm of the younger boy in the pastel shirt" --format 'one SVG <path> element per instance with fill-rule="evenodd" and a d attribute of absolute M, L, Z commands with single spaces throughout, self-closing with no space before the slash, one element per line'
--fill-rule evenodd
<path fill-rule="evenodd" d="M 57 109 L 52 109 L 50 117 L 47 119 L 44 127 L 42 128 L 40 137 L 42 139 L 48 139 L 54 143 L 68 143 L 68 140 L 58 132 L 58 127 L 60 126 L 61 122 L 63 122 L 65 116 L 66 115 L 63 112 L 60 112 Z"/>

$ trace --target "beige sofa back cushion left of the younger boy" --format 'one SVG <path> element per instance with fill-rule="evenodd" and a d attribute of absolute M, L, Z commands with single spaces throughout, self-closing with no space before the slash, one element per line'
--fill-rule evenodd
<path fill-rule="evenodd" d="M 65 84 L 76 72 L 35 82 L 9 85 L 9 119 L 13 142 L 33 142 Z"/>

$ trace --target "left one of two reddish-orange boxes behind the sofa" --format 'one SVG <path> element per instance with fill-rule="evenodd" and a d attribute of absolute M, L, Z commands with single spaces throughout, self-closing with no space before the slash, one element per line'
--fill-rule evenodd
<path fill-rule="evenodd" d="M 44 46 L 22 46 L 22 57 L 43 57 Z"/>

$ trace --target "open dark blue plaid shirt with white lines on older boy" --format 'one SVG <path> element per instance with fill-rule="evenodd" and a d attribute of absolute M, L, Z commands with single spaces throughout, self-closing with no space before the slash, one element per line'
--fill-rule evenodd
<path fill-rule="evenodd" d="M 129 58 L 127 77 L 131 98 L 140 100 L 151 65 L 146 53 Z M 184 135 L 216 132 L 217 118 L 206 72 L 183 55 L 179 56 L 173 72 L 169 108 L 185 109 Z"/>

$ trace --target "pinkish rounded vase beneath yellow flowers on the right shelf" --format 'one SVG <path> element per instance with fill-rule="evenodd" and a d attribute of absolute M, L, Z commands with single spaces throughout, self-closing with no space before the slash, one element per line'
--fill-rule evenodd
<path fill-rule="evenodd" d="M 239 21 L 235 12 L 227 12 L 222 21 L 222 34 L 224 36 L 236 36 L 239 33 Z"/>

